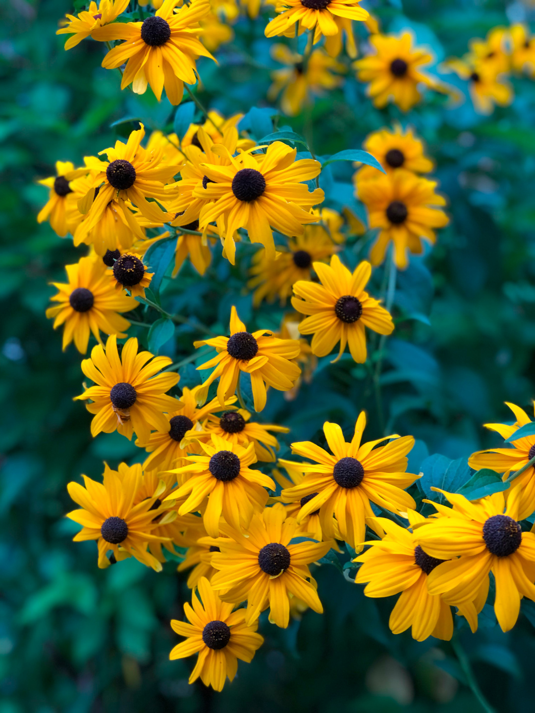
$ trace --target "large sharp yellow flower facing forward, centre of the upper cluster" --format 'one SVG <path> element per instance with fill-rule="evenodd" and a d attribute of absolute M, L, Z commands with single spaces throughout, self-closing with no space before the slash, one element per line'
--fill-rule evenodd
<path fill-rule="evenodd" d="M 248 231 L 250 242 L 261 242 L 267 256 L 275 257 L 272 228 L 282 235 L 302 235 L 303 226 L 315 222 L 310 208 L 322 202 L 321 188 L 308 190 L 302 181 L 315 178 L 321 170 L 312 158 L 295 160 L 297 149 L 281 141 L 267 147 L 261 160 L 242 152 L 233 157 L 221 145 L 228 165 L 202 165 L 208 183 L 193 190 L 194 198 L 208 198 L 200 210 L 200 229 L 218 221 L 220 235 L 225 237 L 225 257 L 234 265 L 234 233 L 240 227 Z"/>

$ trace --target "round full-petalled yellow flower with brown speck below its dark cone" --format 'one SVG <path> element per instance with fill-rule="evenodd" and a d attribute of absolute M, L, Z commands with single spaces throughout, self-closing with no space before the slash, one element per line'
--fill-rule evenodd
<path fill-rule="evenodd" d="M 128 339 L 123 344 L 121 356 L 115 335 L 108 337 L 106 349 L 101 344 L 93 347 L 91 359 L 84 359 L 81 366 L 95 386 L 75 396 L 75 401 L 91 399 L 91 404 L 86 404 L 89 413 L 95 414 L 91 435 L 97 436 L 101 431 L 111 434 L 117 430 L 130 439 L 135 431 L 146 443 L 151 429 L 166 431 L 169 421 L 163 412 L 181 408 L 180 401 L 165 396 L 165 391 L 175 386 L 180 376 L 170 372 L 158 374 L 170 364 L 167 356 L 153 356 L 151 352 L 138 354 L 137 339 Z"/>

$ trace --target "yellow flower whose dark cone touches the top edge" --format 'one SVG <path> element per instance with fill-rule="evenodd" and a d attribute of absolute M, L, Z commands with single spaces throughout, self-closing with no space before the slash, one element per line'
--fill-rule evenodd
<path fill-rule="evenodd" d="M 330 37 L 342 31 L 338 19 L 364 21 L 369 13 L 356 0 L 280 0 L 276 6 L 280 15 L 267 24 L 266 37 L 284 35 L 298 23 L 298 34 L 314 30 L 314 43 L 322 36 Z"/>

